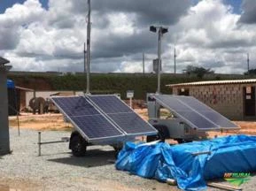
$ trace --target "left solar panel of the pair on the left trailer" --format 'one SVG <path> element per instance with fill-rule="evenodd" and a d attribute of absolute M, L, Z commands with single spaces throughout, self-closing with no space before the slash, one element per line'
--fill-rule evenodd
<path fill-rule="evenodd" d="M 83 96 L 51 97 L 51 100 L 88 141 L 124 136 Z"/>

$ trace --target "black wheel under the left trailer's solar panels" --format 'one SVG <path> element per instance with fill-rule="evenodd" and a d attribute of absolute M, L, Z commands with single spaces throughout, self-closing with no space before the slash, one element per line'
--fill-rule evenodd
<path fill-rule="evenodd" d="M 80 134 L 74 134 L 70 140 L 70 149 L 75 157 L 85 156 L 87 142 L 81 137 Z"/>

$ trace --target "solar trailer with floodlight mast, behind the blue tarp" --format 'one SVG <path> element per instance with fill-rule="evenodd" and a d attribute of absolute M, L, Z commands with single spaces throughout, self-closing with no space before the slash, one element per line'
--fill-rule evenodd
<path fill-rule="evenodd" d="M 178 142 L 206 138 L 207 131 L 236 130 L 240 127 L 192 96 L 148 94 L 149 122 L 158 129 L 147 141 L 167 138 Z M 164 108 L 168 115 L 163 118 Z"/>

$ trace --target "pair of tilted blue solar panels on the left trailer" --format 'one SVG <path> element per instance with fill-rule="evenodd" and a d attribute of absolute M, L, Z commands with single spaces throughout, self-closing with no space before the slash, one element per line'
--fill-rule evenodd
<path fill-rule="evenodd" d="M 51 97 L 88 141 L 129 135 L 157 134 L 116 95 Z"/>

